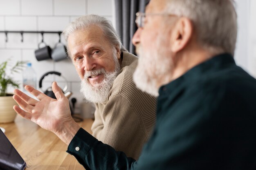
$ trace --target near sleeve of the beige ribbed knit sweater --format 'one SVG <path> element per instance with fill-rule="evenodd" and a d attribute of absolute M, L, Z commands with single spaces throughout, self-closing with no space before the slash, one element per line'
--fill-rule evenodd
<path fill-rule="evenodd" d="M 115 150 L 125 152 L 128 157 L 138 159 L 148 138 L 143 122 L 129 100 L 122 95 L 111 96 L 103 110 L 103 119 L 103 128 L 94 136 Z"/>

